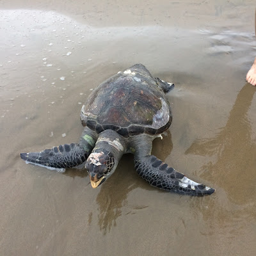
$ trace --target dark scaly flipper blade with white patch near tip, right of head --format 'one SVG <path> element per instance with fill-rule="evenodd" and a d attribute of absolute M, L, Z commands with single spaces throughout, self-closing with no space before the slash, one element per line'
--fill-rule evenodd
<path fill-rule="evenodd" d="M 211 195 L 215 191 L 188 179 L 155 156 L 135 157 L 134 162 L 136 172 L 151 186 L 191 196 Z"/>

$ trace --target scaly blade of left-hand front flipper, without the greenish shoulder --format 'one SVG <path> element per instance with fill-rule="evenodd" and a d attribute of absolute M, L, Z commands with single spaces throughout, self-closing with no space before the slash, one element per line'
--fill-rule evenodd
<path fill-rule="evenodd" d="M 66 168 L 79 166 L 86 161 L 90 152 L 86 152 L 79 144 L 65 144 L 41 152 L 20 153 L 20 157 L 28 164 L 35 164 L 58 172 Z"/>

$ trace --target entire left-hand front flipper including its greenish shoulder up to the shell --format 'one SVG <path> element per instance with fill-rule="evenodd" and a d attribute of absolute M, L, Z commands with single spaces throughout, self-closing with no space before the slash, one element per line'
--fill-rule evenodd
<path fill-rule="evenodd" d="M 97 134 L 85 127 L 78 144 L 60 145 L 41 152 L 20 153 L 20 157 L 26 163 L 65 172 L 66 168 L 77 167 L 86 161 L 96 140 Z"/>

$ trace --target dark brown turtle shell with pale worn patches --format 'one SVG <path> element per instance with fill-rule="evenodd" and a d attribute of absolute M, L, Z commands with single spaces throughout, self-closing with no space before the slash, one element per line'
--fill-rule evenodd
<path fill-rule="evenodd" d="M 81 109 L 81 120 L 97 133 L 113 129 L 125 137 L 155 135 L 170 127 L 172 112 L 156 80 L 136 64 L 93 90 Z"/>

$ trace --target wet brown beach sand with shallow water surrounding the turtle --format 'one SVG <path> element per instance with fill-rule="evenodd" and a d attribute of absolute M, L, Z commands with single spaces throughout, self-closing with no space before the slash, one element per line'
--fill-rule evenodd
<path fill-rule="evenodd" d="M 0 255 L 255 255 L 255 1 L 1 1 Z M 224 3 L 223 3 L 224 2 Z M 216 189 L 150 187 L 132 156 L 100 188 L 20 152 L 78 141 L 81 104 L 143 63 L 175 83 L 153 153 Z"/>

